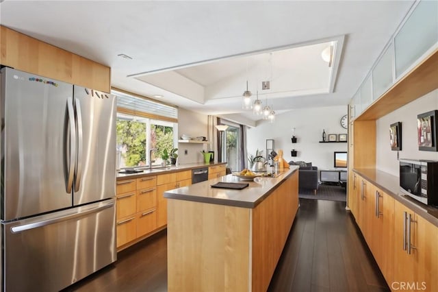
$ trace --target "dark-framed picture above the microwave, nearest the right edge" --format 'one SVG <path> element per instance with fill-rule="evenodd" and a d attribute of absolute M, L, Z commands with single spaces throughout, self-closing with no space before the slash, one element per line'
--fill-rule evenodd
<path fill-rule="evenodd" d="M 438 110 L 417 115 L 418 150 L 437 151 Z"/>

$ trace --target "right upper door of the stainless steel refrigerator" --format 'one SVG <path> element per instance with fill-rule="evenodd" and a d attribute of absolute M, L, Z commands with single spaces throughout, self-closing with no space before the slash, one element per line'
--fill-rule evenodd
<path fill-rule="evenodd" d="M 116 196 L 116 97 L 74 86 L 77 169 L 73 204 Z"/>

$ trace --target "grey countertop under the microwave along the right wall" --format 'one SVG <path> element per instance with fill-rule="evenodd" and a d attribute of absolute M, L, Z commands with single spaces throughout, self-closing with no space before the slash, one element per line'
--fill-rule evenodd
<path fill-rule="evenodd" d="M 426 204 L 422 204 L 421 202 L 418 202 L 407 195 L 403 195 L 403 193 L 400 192 L 400 183 L 397 176 L 386 173 L 385 171 L 379 171 L 377 169 L 353 169 L 353 171 L 361 175 L 366 180 L 369 180 L 372 182 L 372 184 L 378 188 L 381 188 L 382 191 L 391 197 L 394 197 L 394 199 L 396 199 L 398 202 L 402 203 L 404 206 L 407 206 L 418 215 L 438 227 L 438 208 L 427 206 Z"/>

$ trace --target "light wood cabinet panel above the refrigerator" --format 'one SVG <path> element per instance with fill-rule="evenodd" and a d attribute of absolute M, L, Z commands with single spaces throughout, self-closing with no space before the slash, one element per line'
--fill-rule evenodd
<path fill-rule="evenodd" d="M 55 80 L 110 92 L 111 69 L 0 26 L 0 64 Z"/>

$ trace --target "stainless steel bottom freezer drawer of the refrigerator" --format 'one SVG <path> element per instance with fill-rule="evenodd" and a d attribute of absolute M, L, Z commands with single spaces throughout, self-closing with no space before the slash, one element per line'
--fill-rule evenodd
<path fill-rule="evenodd" d="M 59 291 L 116 260 L 115 202 L 2 223 L 3 291 Z"/>

